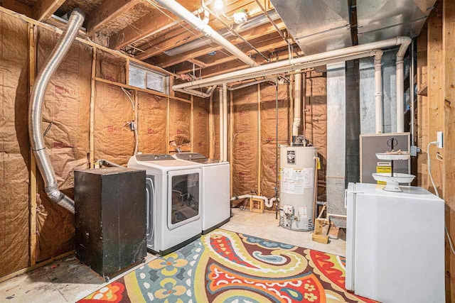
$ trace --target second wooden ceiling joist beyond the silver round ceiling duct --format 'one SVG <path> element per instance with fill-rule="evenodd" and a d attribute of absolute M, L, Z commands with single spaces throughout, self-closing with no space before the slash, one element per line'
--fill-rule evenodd
<path fill-rule="evenodd" d="M 262 38 L 259 38 L 262 39 Z M 287 42 L 284 41 L 281 37 L 274 38 L 272 40 L 267 40 L 267 38 L 264 38 L 266 40 L 263 40 L 259 44 L 252 43 L 255 45 L 255 48 L 259 50 L 259 52 L 264 53 L 264 52 L 273 52 L 277 48 L 283 48 L 284 46 L 287 46 Z M 246 50 L 245 53 L 247 55 L 256 55 L 257 53 L 255 50 L 252 50 L 249 46 L 245 45 L 240 50 Z M 188 60 L 188 62 L 193 63 L 194 59 Z M 218 53 L 216 55 L 206 57 L 204 60 L 198 60 L 199 64 L 195 62 L 196 65 L 200 67 L 212 67 L 215 65 L 220 65 L 223 63 L 231 62 L 237 60 L 237 57 L 235 56 L 226 56 L 224 53 Z M 181 74 L 187 74 L 188 72 L 193 71 L 193 67 L 191 67 L 191 63 L 188 63 L 186 65 L 183 65 L 180 69 L 176 70 L 176 74 L 181 75 Z"/>

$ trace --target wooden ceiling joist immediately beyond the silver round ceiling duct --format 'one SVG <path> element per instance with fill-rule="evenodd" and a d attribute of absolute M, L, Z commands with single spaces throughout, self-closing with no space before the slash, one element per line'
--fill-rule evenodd
<path fill-rule="evenodd" d="M 277 21 L 277 26 L 281 29 L 286 28 L 286 26 L 284 26 L 284 23 L 282 21 Z M 270 23 L 267 23 L 262 26 L 258 26 L 257 28 L 253 28 L 251 31 L 248 31 L 247 33 L 242 35 L 242 37 L 245 38 L 246 40 L 250 41 L 253 39 L 264 37 L 265 35 L 276 33 L 276 32 L 277 31 L 275 30 L 274 26 L 272 26 L 272 24 L 270 24 Z M 237 37 L 231 37 L 228 40 L 230 41 L 230 43 L 232 43 L 234 45 L 243 43 L 243 41 Z M 156 57 L 156 60 L 154 63 L 155 63 L 155 65 L 157 65 L 159 67 L 170 67 L 172 65 L 176 65 L 178 63 L 185 62 L 190 59 L 200 57 L 203 55 L 207 55 L 210 52 L 218 51 L 218 50 L 222 50 L 222 49 L 223 48 L 220 46 L 217 46 L 215 48 L 207 48 L 206 46 L 204 46 L 202 48 L 198 48 L 196 50 L 191 50 L 190 52 L 186 52 L 181 55 L 175 55 L 173 57 L 169 57 L 168 55 L 159 55 Z"/>

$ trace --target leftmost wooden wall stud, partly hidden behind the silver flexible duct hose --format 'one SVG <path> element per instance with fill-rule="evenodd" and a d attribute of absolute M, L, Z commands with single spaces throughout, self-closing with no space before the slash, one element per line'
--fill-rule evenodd
<path fill-rule="evenodd" d="M 28 92 L 31 93 L 33 84 L 36 77 L 36 28 L 32 24 L 28 24 Z M 29 231 L 30 231 L 30 246 L 29 257 L 30 265 L 36 264 L 36 195 L 38 194 L 38 187 L 36 184 L 36 160 L 33 151 L 30 150 L 30 218 L 29 218 Z"/>

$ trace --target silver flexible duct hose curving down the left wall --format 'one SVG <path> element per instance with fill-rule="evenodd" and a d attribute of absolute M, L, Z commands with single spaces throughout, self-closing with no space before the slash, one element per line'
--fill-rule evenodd
<path fill-rule="evenodd" d="M 43 69 L 36 77 L 30 96 L 30 108 L 28 109 L 28 136 L 30 137 L 33 155 L 35 155 L 36 165 L 41 172 L 41 176 L 43 176 L 45 193 L 49 199 L 68 209 L 72 214 L 74 214 L 74 201 L 58 189 L 55 172 L 52 165 L 50 165 L 49 156 L 45 150 L 41 121 L 43 120 L 45 89 L 48 87 L 50 77 L 52 77 L 68 50 L 70 50 L 71 45 L 73 45 L 84 18 L 85 14 L 80 9 L 75 9 L 71 13 L 65 31 L 63 31 L 52 54 L 50 54 Z"/>

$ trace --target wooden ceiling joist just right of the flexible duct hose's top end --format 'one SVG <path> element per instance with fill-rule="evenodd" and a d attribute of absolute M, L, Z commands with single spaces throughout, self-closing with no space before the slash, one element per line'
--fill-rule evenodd
<path fill-rule="evenodd" d="M 86 18 L 87 34 L 93 35 L 110 21 L 135 6 L 139 0 L 104 0 Z"/>

